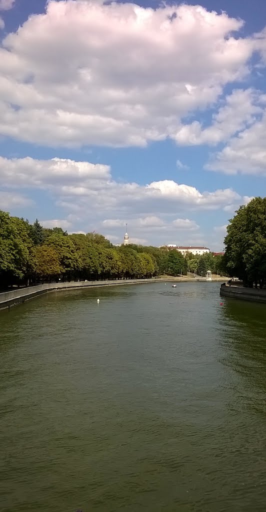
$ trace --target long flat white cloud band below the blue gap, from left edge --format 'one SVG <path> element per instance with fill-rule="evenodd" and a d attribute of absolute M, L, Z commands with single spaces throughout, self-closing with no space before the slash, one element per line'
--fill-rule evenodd
<path fill-rule="evenodd" d="M 218 209 L 240 196 L 231 188 L 201 193 L 195 187 L 172 180 L 154 181 L 145 186 L 118 183 L 107 165 L 75 162 L 55 158 L 7 159 L 0 157 L 0 184 L 6 187 L 39 187 L 56 195 L 57 201 L 75 215 L 79 210 L 148 211 L 149 222 L 159 211 L 176 211 L 186 206 L 195 209 Z M 71 213 L 71 212 L 70 212 Z M 73 212 L 72 212 L 73 213 Z M 147 218 L 143 222 L 148 222 Z"/>

